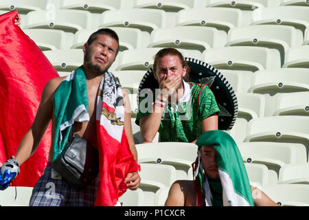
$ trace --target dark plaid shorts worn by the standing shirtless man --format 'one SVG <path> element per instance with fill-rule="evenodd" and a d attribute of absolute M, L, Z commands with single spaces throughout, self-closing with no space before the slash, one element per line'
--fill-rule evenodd
<path fill-rule="evenodd" d="M 93 206 L 99 181 L 98 175 L 87 188 L 78 190 L 63 180 L 52 179 L 52 166 L 47 164 L 33 188 L 30 206 Z"/>

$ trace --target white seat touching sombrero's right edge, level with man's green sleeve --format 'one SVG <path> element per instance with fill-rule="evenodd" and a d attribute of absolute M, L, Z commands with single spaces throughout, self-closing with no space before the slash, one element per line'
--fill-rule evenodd
<path fill-rule="evenodd" d="M 265 97 L 261 94 L 236 94 L 238 101 L 238 118 L 244 118 L 247 121 L 253 118 L 264 117 Z"/>

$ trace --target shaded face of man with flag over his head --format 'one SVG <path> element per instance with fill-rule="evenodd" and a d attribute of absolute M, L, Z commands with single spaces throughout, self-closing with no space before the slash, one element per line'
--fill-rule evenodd
<path fill-rule="evenodd" d="M 213 146 L 201 146 L 201 160 L 209 179 L 220 180 L 217 164 L 218 152 Z"/>

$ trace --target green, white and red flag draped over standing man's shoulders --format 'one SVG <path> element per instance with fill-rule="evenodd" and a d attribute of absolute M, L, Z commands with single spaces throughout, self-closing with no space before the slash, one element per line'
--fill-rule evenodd
<path fill-rule="evenodd" d="M 110 72 L 102 77 L 96 103 L 100 184 L 95 206 L 115 206 L 126 192 L 126 174 L 140 170 L 130 151 L 124 131 L 124 98 L 122 89 Z M 54 94 L 55 141 L 54 159 L 58 157 L 74 122 L 89 121 L 87 82 L 84 68 L 78 67 Z"/>

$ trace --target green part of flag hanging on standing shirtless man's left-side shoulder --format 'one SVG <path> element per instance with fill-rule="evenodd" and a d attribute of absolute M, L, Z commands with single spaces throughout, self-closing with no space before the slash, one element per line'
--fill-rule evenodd
<path fill-rule="evenodd" d="M 72 77 L 73 76 L 73 77 Z M 53 161 L 58 157 L 69 137 L 76 118 L 89 120 L 87 82 L 83 67 L 60 83 L 54 94 L 55 138 Z M 83 115 L 83 116 L 81 116 Z M 88 115 L 88 118 L 87 118 Z"/>

